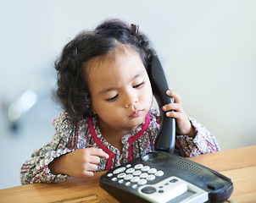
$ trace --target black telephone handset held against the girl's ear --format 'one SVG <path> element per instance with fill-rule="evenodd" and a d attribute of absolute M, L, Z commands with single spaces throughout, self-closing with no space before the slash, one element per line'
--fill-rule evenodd
<path fill-rule="evenodd" d="M 153 96 L 159 104 L 161 116 L 159 134 L 154 144 L 154 150 L 173 153 L 175 149 L 175 118 L 166 117 L 162 107 L 165 104 L 173 103 L 174 101 L 172 97 L 166 95 L 166 91 L 170 90 L 170 87 L 166 80 L 164 69 L 156 55 L 152 58 L 148 76 L 151 81 Z"/>

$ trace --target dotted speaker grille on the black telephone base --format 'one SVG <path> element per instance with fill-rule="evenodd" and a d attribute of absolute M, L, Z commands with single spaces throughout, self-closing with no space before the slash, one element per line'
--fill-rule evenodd
<path fill-rule="evenodd" d="M 179 162 L 176 162 L 174 165 L 170 166 L 170 170 L 189 178 L 202 172 L 203 169 L 180 160 Z"/>

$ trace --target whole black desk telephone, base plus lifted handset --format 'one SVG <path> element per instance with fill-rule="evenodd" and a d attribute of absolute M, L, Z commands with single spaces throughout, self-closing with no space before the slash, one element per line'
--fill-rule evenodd
<path fill-rule="evenodd" d="M 222 202 L 233 192 L 230 178 L 172 152 L 175 148 L 175 119 L 162 111 L 173 102 L 164 70 L 153 56 L 147 71 L 153 87 L 161 123 L 155 150 L 110 169 L 100 177 L 100 186 L 120 202 Z M 170 153 L 171 152 L 171 153 Z"/>

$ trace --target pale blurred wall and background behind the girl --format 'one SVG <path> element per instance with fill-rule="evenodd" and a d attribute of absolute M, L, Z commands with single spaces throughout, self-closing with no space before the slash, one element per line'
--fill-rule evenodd
<path fill-rule="evenodd" d="M 53 63 L 77 32 L 107 18 L 140 25 L 186 113 L 222 150 L 256 145 L 256 1 L 0 0 L 0 189 L 50 141 Z"/>

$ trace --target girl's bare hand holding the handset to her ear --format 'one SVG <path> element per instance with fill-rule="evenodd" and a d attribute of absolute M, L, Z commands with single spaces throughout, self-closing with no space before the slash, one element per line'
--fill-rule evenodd
<path fill-rule="evenodd" d="M 174 103 L 164 105 L 163 110 L 166 112 L 167 117 L 175 118 L 176 134 L 184 134 L 194 138 L 196 131 L 188 120 L 186 112 L 184 112 L 181 107 L 181 96 L 175 91 L 166 91 L 166 95 L 171 96 L 174 99 Z M 170 112 L 170 110 L 173 110 L 174 112 Z"/>

